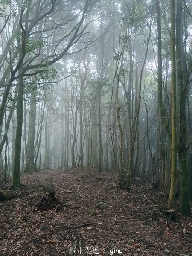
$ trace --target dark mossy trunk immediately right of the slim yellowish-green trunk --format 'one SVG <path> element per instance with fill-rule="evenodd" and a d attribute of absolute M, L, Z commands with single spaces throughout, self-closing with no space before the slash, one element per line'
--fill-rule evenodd
<path fill-rule="evenodd" d="M 189 177 L 187 168 L 187 151 L 186 151 L 186 98 L 187 98 L 187 83 L 186 81 L 186 67 L 182 69 L 181 47 L 183 45 L 182 33 L 182 0 L 177 2 L 177 16 L 176 16 L 176 63 L 177 63 L 177 84 L 180 100 L 179 109 L 179 145 L 178 157 L 180 165 L 180 211 L 184 215 L 190 216 L 190 200 L 189 200 Z M 184 53 L 184 51 L 183 51 Z M 184 83 L 184 84 L 183 84 Z"/>

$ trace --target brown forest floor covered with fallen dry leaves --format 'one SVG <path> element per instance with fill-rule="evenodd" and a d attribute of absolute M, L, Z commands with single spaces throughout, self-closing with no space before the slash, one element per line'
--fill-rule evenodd
<path fill-rule="evenodd" d="M 167 212 L 162 193 L 140 182 L 128 192 L 114 175 L 87 172 L 44 170 L 23 175 L 20 188 L 3 184 L 16 198 L 0 202 L 0 256 L 192 256 L 192 218 Z M 52 190 L 58 201 L 47 209 Z"/>

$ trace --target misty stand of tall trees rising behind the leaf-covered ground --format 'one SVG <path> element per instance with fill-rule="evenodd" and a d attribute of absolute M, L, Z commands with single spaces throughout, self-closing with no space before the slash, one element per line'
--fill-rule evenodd
<path fill-rule="evenodd" d="M 190 215 L 190 1 L 0 1 L 0 173 L 84 167 Z"/>

